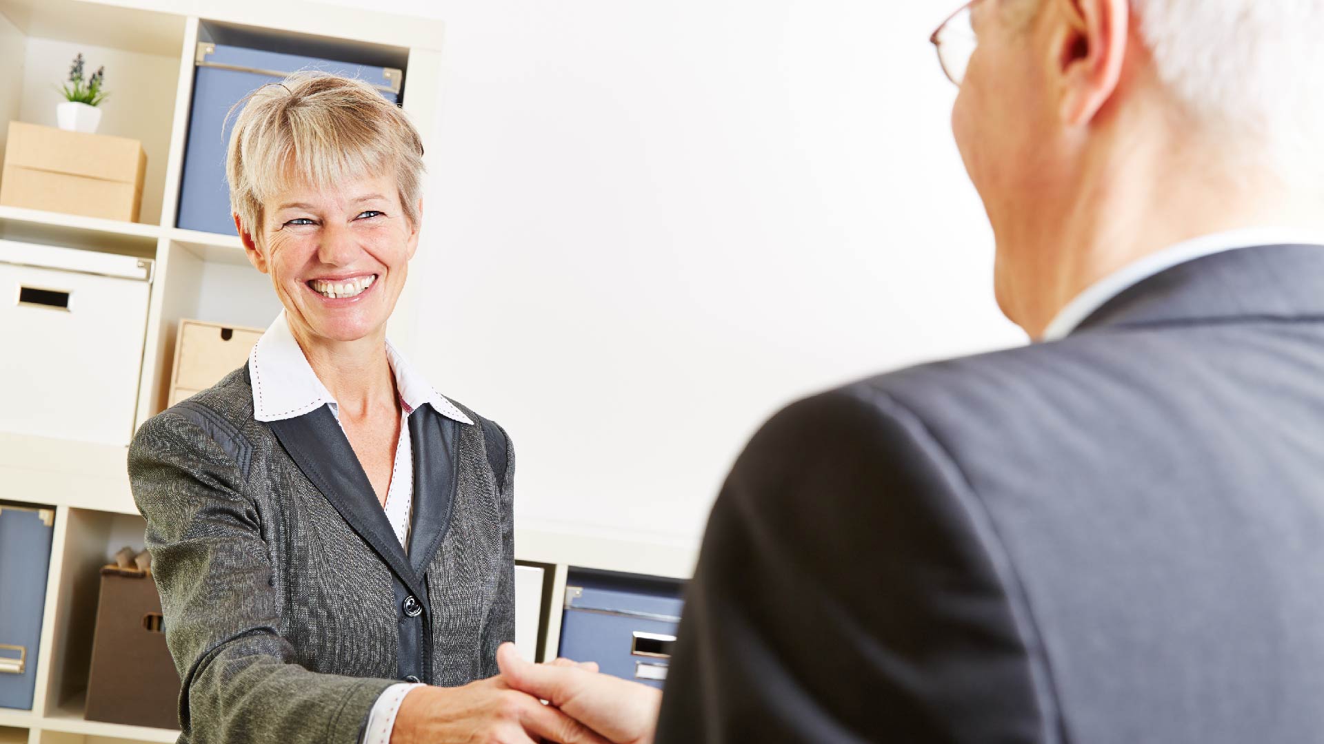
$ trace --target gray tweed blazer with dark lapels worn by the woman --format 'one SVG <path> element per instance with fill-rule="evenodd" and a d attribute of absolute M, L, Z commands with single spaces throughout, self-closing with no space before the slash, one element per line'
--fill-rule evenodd
<path fill-rule="evenodd" d="M 496 674 L 515 635 L 515 462 L 500 426 L 459 408 L 475 425 L 409 416 L 408 553 L 331 412 L 254 420 L 246 364 L 142 425 L 128 477 L 180 743 L 351 744 L 392 683 Z"/>

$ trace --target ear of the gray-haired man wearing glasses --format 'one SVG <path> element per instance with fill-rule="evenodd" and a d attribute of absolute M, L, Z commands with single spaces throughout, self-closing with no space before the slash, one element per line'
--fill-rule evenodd
<path fill-rule="evenodd" d="M 1129 0 L 1049 0 L 1055 5 L 1050 53 L 1062 122 L 1090 123 L 1117 90 L 1127 56 Z"/>

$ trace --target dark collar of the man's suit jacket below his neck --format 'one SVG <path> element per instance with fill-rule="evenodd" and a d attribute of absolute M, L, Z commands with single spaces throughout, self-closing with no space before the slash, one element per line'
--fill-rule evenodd
<path fill-rule="evenodd" d="M 1165 269 L 1090 314 L 1075 332 L 1243 319 L 1324 318 L 1324 245 L 1260 245 Z"/>

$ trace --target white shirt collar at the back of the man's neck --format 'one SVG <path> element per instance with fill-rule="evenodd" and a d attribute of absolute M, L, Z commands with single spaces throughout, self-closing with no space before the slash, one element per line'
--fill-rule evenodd
<path fill-rule="evenodd" d="M 1095 310 L 1110 299 L 1140 282 L 1160 274 L 1178 263 L 1204 258 L 1226 250 L 1255 248 L 1260 245 L 1324 245 L 1324 234 L 1309 233 L 1292 228 L 1246 228 L 1211 233 L 1168 246 L 1157 253 L 1133 261 L 1121 269 L 1090 285 L 1075 299 L 1068 302 L 1043 330 L 1041 342 L 1064 339 Z"/>

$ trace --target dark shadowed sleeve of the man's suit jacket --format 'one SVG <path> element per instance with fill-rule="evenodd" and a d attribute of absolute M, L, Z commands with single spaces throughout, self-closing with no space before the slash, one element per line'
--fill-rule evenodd
<path fill-rule="evenodd" d="M 1043 740 L 1000 555 L 895 401 L 855 387 L 789 406 L 712 510 L 657 740 Z"/>

